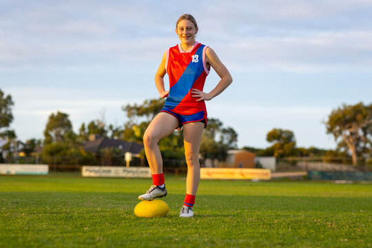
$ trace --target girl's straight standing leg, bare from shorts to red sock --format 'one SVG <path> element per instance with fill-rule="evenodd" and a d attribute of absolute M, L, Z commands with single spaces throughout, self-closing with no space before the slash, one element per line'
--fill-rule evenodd
<path fill-rule="evenodd" d="M 187 163 L 186 193 L 195 196 L 200 180 L 199 149 L 204 123 L 194 122 L 183 125 L 183 139 Z"/>

